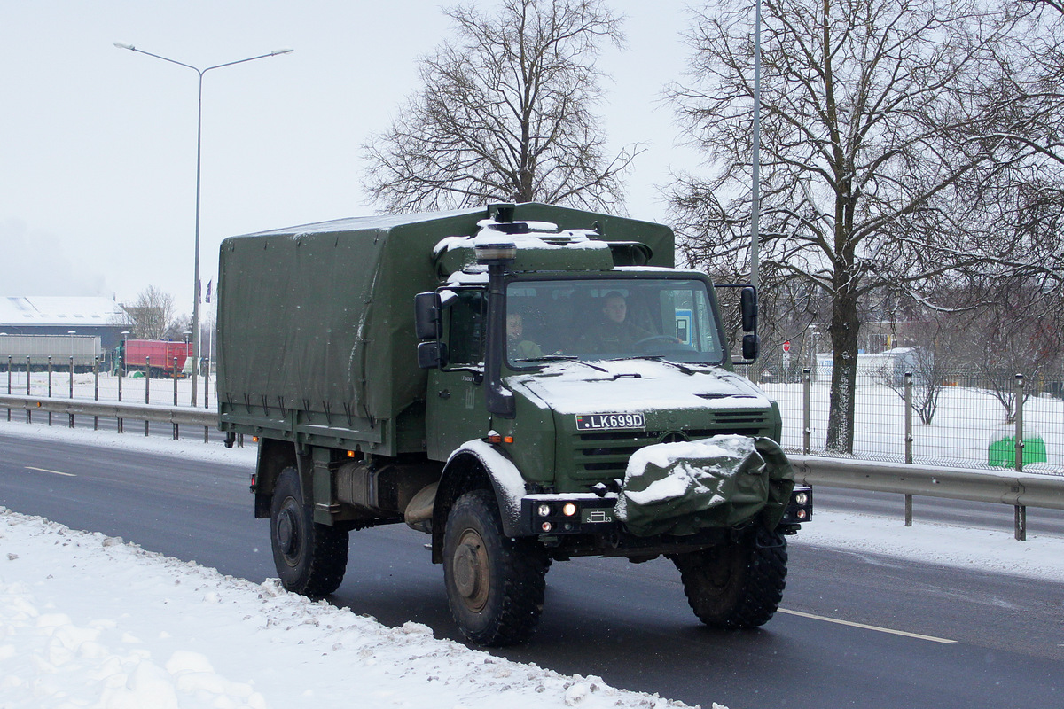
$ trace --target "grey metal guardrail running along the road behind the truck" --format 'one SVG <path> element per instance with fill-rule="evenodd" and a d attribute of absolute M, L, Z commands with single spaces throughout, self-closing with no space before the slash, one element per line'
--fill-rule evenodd
<path fill-rule="evenodd" d="M 28 413 L 51 411 L 112 417 L 119 421 L 151 421 L 204 427 L 218 424 L 211 409 L 153 406 L 147 404 L 86 402 L 0 394 L 0 409 L 19 409 Z M 147 425 L 147 424 L 146 424 Z M 788 454 L 795 478 L 805 485 L 905 495 L 905 524 L 912 524 L 913 495 L 998 503 L 1015 508 L 1018 540 L 1027 538 L 1027 507 L 1064 509 L 1064 476 L 1017 473 L 1015 471 L 977 471 L 902 462 L 881 462 L 855 458 L 829 458 Z"/>

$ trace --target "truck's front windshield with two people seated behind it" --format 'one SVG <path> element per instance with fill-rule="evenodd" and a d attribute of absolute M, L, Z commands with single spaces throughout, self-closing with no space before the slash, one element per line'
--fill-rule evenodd
<path fill-rule="evenodd" d="M 523 281 L 506 287 L 506 358 L 661 357 L 715 365 L 720 331 L 705 283 L 677 278 Z"/>

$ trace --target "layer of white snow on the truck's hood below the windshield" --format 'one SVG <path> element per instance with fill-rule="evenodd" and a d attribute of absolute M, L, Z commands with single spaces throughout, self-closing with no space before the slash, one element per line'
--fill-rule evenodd
<path fill-rule="evenodd" d="M 558 413 L 708 408 L 714 403 L 728 408 L 765 409 L 771 405 L 763 391 L 733 372 L 700 365 L 683 367 L 686 371 L 650 359 L 573 360 L 514 375 L 506 383 L 533 394 L 534 403 Z"/>

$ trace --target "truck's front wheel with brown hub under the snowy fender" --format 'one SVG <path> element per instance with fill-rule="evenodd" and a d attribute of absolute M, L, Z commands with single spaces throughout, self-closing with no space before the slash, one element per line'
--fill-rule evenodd
<path fill-rule="evenodd" d="M 492 646 L 528 640 L 543 612 L 548 561 L 537 542 L 503 536 L 489 491 L 459 497 L 444 530 L 444 584 L 462 635 Z"/>

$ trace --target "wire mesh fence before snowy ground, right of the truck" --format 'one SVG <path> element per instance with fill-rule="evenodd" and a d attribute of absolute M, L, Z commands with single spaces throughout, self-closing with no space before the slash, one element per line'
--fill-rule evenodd
<path fill-rule="evenodd" d="M 780 361 L 757 365 L 761 387 L 780 404 L 782 443 L 788 451 L 830 454 L 826 440 L 831 372 L 820 365 L 798 370 Z M 1064 474 L 1062 382 L 1064 372 L 1027 377 L 859 369 L 853 455 L 1015 470 L 1018 448 L 1025 471 Z"/>

